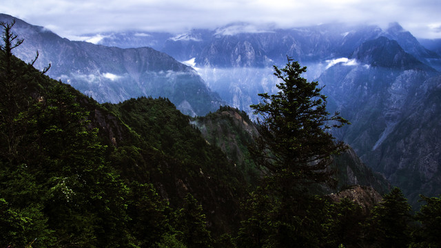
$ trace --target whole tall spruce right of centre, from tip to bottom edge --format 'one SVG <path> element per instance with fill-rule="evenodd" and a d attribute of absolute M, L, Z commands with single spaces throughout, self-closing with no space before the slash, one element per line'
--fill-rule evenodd
<path fill-rule="evenodd" d="M 267 175 L 245 204 L 247 217 L 237 242 L 245 247 L 320 247 L 329 210 L 308 189 L 331 183 L 330 156 L 345 146 L 328 131 L 348 121 L 338 113 L 329 116 L 322 88 L 300 76 L 305 67 L 288 59 L 285 68 L 274 70 L 282 80 L 279 92 L 259 94 L 262 103 L 251 106 L 262 119 L 250 152 Z"/>

